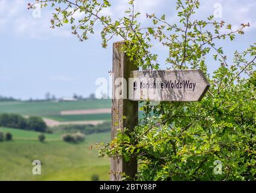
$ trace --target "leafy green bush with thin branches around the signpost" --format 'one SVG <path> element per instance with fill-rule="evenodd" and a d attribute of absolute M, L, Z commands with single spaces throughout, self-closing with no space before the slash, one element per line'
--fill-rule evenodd
<path fill-rule="evenodd" d="M 125 44 L 121 49 L 142 69 L 159 69 L 158 55 L 150 49 L 158 40 L 169 50 L 167 69 L 201 69 L 211 83 L 200 103 L 152 106 L 145 102 L 140 125 L 132 133 L 120 131 L 103 147 L 101 156 L 121 156 L 126 161 L 136 157 L 140 163 L 137 180 L 256 180 L 256 43 L 244 52 L 236 51 L 232 63 L 217 46 L 243 35 L 249 24 L 233 30 L 231 24 L 214 21 L 214 16 L 206 21 L 194 19 L 198 0 L 177 0 L 179 24 L 170 24 L 164 14 L 147 14 L 152 26 L 146 28 L 138 22 L 133 0 L 128 1 L 126 15 L 117 21 L 100 16 L 110 6 L 107 0 L 38 3 L 42 7 L 50 3 L 66 6 L 56 8 L 52 28 L 70 23 L 72 33 L 86 40 L 100 22 L 103 47 L 112 37 L 122 37 Z M 79 21 L 73 17 L 77 11 L 84 13 Z M 220 64 L 213 77 L 206 65 L 209 55 Z M 216 163 L 221 163 L 222 172 L 214 174 Z"/>

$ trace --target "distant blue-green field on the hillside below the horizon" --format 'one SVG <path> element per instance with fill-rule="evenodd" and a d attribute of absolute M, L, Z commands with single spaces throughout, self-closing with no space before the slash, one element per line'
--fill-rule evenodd
<path fill-rule="evenodd" d="M 56 121 L 92 121 L 110 120 L 110 114 L 95 115 L 60 115 L 62 110 L 85 110 L 111 108 L 111 100 L 86 100 L 71 102 L 55 101 L 12 101 L 0 102 L 0 113 L 41 116 Z"/>

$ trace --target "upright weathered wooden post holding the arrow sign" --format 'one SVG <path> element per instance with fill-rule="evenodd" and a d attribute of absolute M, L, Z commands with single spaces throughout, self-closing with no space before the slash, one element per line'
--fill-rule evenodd
<path fill-rule="evenodd" d="M 120 46 L 124 42 L 115 42 L 113 45 L 113 90 L 112 90 L 112 128 L 111 138 L 114 139 L 117 134 L 117 130 L 124 128 L 132 131 L 133 128 L 138 125 L 138 101 L 128 100 L 128 83 L 131 71 L 136 71 L 138 68 L 129 61 L 127 55 L 120 50 Z M 115 85 L 121 78 L 124 78 L 123 83 Z M 117 84 L 117 83 L 116 83 Z M 116 92 L 116 94 L 115 94 Z M 118 97 L 124 96 L 123 97 Z M 123 117 L 126 117 L 123 119 Z M 130 162 L 126 162 L 121 157 L 111 158 L 111 181 L 120 181 L 121 174 L 131 178 L 135 177 L 137 173 L 137 160 L 133 158 Z"/>

